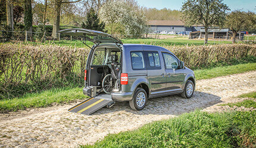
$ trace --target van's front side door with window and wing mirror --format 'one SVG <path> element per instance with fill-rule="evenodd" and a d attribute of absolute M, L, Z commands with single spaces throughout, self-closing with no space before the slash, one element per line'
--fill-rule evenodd
<path fill-rule="evenodd" d="M 166 92 L 182 91 L 185 73 L 179 69 L 179 60 L 170 53 L 163 53 L 166 67 Z"/>

